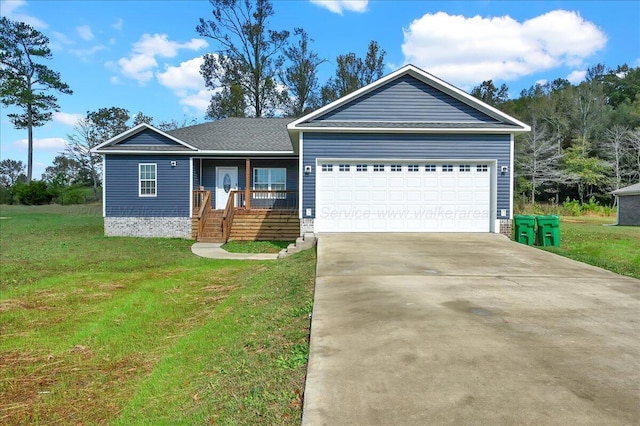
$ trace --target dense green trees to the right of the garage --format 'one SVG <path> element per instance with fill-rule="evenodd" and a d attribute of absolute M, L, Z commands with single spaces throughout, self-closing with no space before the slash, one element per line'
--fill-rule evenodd
<path fill-rule="evenodd" d="M 531 125 L 515 140 L 521 202 L 577 199 L 611 204 L 640 181 L 640 67 L 589 68 L 584 81 L 536 84 L 516 99 L 492 81 L 471 94 Z"/>

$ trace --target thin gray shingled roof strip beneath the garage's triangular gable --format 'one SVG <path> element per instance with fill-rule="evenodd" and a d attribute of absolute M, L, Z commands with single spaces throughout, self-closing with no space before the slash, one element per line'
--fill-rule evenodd
<path fill-rule="evenodd" d="M 518 128 L 508 123 L 456 123 L 456 122 L 406 122 L 406 121 L 310 121 L 300 123 L 298 127 L 362 127 L 385 129 L 513 129 Z"/>

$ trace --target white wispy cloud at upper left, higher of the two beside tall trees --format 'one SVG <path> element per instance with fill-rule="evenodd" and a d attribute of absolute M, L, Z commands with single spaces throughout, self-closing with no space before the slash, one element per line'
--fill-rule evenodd
<path fill-rule="evenodd" d="M 206 41 L 197 38 L 179 43 L 170 41 L 166 34 L 143 34 L 140 40 L 133 44 L 129 57 L 118 60 L 120 72 L 144 85 L 153 78 L 153 69 L 158 67 L 156 56 L 173 58 L 179 50 L 197 51 L 206 46 Z"/>

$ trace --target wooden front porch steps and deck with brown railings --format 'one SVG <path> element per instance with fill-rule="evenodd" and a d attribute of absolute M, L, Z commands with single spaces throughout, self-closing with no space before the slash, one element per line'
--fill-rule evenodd
<path fill-rule="evenodd" d="M 299 236 L 298 191 L 229 190 L 224 209 L 213 208 L 211 191 L 193 192 L 194 240 L 289 241 Z"/>

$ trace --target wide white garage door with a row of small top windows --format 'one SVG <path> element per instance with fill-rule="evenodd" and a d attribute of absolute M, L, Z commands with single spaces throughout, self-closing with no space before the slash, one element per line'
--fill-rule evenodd
<path fill-rule="evenodd" d="M 489 232 L 491 165 L 318 160 L 317 232 Z"/>

